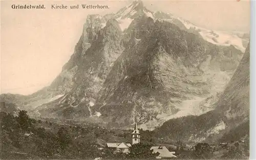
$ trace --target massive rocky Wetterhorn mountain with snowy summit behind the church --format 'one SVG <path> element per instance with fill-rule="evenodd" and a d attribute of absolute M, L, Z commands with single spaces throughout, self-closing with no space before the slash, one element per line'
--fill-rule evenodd
<path fill-rule="evenodd" d="M 202 29 L 133 2 L 115 14 L 88 15 L 61 73 L 18 106 L 34 117 L 154 129 L 214 110 L 246 41 L 246 33 Z"/>

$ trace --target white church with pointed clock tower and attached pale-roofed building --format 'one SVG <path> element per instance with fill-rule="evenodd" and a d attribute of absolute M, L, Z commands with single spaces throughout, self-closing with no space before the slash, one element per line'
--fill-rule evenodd
<path fill-rule="evenodd" d="M 134 131 L 132 132 L 132 145 L 140 143 L 140 133 L 137 129 L 137 124 L 135 123 Z M 106 143 L 108 148 L 116 148 L 123 153 L 129 153 L 129 148 L 132 147 L 130 143 Z"/>

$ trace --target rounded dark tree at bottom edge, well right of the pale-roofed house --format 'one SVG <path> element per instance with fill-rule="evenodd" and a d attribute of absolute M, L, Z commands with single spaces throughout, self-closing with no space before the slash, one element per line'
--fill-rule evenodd
<path fill-rule="evenodd" d="M 193 156 L 196 159 L 210 159 L 212 153 L 213 150 L 208 143 L 198 143 L 195 146 Z"/>

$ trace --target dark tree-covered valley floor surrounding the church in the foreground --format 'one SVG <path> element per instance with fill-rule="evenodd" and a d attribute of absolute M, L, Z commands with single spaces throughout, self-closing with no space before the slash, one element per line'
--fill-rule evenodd
<path fill-rule="evenodd" d="M 162 143 L 154 131 L 140 129 L 141 144 L 133 145 L 130 153 L 125 154 L 105 148 L 105 144 L 114 141 L 130 143 L 132 130 L 36 120 L 30 118 L 27 111 L 19 111 L 16 116 L 0 112 L 0 120 L 1 159 L 154 159 L 157 153 L 152 153 L 150 148 Z M 244 159 L 249 156 L 249 141 L 218 146 L 197 143 L 193 149 L 185 149 L 184 142 L 172 142 L 165 142 L 169 145 L 166 147 L 175 151 L 178 159 Z M 177 147 L 173 149 L 170 145 Z"/>

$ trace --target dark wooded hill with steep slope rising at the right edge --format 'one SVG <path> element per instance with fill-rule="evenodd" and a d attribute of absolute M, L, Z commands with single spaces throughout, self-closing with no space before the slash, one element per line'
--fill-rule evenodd
<path fill-rule="evenodd" d="M 250 43 L 249 43 L 250 44 Z M 155 130 L 158 136 L 183 141 L 238 141 L 249 135 L 250 45 L 226 86 L 216 108 L 200 116 L 166 121 Z"/>

